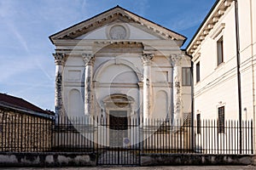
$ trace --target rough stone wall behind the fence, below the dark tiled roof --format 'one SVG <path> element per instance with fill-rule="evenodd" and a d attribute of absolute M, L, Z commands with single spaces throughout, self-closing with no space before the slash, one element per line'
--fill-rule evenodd
<path fill-rule="evenodd" d="M 49 118 L 0 108 L 0 151 L 50 150 L 52 126 Z"/>

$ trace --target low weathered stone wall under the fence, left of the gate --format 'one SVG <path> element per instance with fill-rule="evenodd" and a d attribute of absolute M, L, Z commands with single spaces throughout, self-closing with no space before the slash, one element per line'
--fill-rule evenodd
<path fill-rule="evenodd" d="M 0 167 L 92 167 L 96 156 L 88 153 L 1 153 Z"/>

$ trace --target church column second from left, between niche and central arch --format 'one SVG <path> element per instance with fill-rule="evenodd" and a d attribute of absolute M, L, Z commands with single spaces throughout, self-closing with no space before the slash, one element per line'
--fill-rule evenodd
<path fill-rule="evenodd" d="M 93 54 L 82 54 L 84 59 L 84 115 L 92 111 L 92 73 L 95 57 Z"/>

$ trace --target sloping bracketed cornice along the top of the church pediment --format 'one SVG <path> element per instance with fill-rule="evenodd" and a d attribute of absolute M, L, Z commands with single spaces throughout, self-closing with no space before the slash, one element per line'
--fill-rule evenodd
<path fill-rule="evenodd" d="M 179 40 L 184 41 L 186 37 L 178 34 L 175 31 L 171 31 L 163 26 L 157 25 L 154 22 L 144 19 L 137 14 L 133 14 L 125 8 L 119 6 L 111 8 L 102 14 L 98 14 L 89 20 L 84 20 L 74 26 L 70 26 L 63 31 L 59 31 L 54 35 L 50 36 L 51 42 L 55 43 L 55 40 L 61 39 L 74 39 L 81 35 L 84 35 L 90 31 L 96 30 L 101 26 L 106 26 L 109 23 L 115 21 L 122 21 L 125 23 L 138 24 L 144 31 L 148 31 L 151 34 L 162 37 L 163 39 Z"/>

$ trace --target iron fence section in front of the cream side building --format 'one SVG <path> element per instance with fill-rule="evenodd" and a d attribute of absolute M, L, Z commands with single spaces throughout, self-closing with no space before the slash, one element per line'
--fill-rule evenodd
<path fill-rule="evenodd" d="M 195 151 L 204 154 L 253 154 L 253 121 L 225 121 L 220 127 L 218 121 L 204 120 L 195 131 Z"/>

